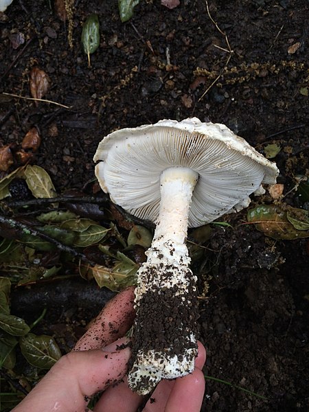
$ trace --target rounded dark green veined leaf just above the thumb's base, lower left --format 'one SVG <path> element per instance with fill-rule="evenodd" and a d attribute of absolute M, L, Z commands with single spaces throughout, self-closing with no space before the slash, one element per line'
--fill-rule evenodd
<path fill-rule="evenodd" d="M 49 369 L 61 357 L 60 349 L 52 336 L 28 333 L 19 339 L 21 352 L 30 365 Z"/>

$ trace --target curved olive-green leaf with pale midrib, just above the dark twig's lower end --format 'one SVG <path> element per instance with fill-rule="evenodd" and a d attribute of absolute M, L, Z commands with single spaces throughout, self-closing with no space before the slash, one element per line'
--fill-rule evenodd
<path fill-rule="evenodd" d="M 71 219 L 61 225 L 62 228 L 71 229 L 76 232 L 74 246 L 87 247 L 100 242 L 109 229 L 97 225 L 90 219 Z"/>

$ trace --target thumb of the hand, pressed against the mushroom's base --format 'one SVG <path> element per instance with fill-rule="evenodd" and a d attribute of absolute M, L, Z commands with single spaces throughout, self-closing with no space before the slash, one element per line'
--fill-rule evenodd
<path fill-rule="evenodd" d="M 130 358 L 127 343 L 123 338 L 103 350 L 62 356 L 13 411 L 84 412 L 94 393 L 114 385 L 126 374 Z"/>

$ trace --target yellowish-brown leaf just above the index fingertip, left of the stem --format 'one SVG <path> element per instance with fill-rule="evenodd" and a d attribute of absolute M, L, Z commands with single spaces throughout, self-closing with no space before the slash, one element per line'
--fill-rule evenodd
<path fill-rule="evenodd" d="M 136 273 L 139 265 L 127 258 L 123 253 L 118 255 L 118 257 L 122 258 L 122 261 L 116 261 L 111 269 L 100 265 L 95 265 L 92 268 L 93 277 L 100 288 L 105 286 L 108 289 L 117 291 L 136 284 Z"/>

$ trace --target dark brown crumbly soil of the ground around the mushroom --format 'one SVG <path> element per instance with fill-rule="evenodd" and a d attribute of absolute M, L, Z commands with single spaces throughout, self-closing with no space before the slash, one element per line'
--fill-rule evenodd
<path fill-rule="evenodd" d="M 116 1 L 76 3 L 73 47 L 53 2 L 15 0 L 1 15 L 1 91 L 30 97 L 38 67 L 50 79 L 44 98 L 69 109 L 0 95 L 0 146 L 17 151 L 36 126 L 41 146 L 32 162 L 58 193 L 82 190 L 93 184 L 93 154 L 112 130 L 196 116 L 226 124 L 260 152 L 280 145 L 284 202 L 308 208 L 293 190 L 308 173 L 308 1 L 211 0 L 211 21 L 203 0 L 172 10 L 149 0 L 127 23 Z M 88 67 L 80 36 L 93 12 L 100 47 Z M 308 411 L 308 240 L 275 241 L 243 221 L 245 211 L 229 217 L 233 229 L 214 227 L 193 264 L 210 377 L 202 410 Z M 80 332 L 69 331 L 68 313 L 45 319 L 64 347 Z M 93 310 L 78 314 L 88 321 Z"/>

